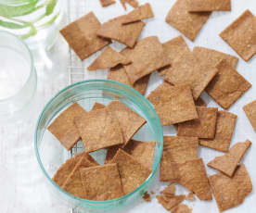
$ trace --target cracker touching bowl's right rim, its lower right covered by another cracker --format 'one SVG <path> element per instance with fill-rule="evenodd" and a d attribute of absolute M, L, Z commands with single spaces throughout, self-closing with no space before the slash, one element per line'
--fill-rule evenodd
<path fill-rule="evenodd" d="M 177 181 L 175 163 L 198 157 L 198 138 L 195 137 L 163 137 L 163 152 L 160 161 L 160 181 Z"/>

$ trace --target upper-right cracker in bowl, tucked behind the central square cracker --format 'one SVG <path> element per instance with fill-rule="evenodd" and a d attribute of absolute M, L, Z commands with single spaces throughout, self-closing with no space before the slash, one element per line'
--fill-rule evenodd
<path fill-rule="evenodd" d="M 107 106 L 109 113 L 116 117 L 122 129 L 123 146 L 125 146 L 136 132 L 147 122 L 129 107 L 120 101 L 111 101 Z"/>

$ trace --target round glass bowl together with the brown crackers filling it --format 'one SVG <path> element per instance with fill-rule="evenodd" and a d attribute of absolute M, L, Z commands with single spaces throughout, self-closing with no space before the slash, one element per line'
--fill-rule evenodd
<path fill-rule="evenodd" d="M 115 212 L 144 196 L 163 133 L 147 99 L 116 81 L 70 85 L 45 106 L 35 152 L 50 191 L 82 212 Z"/>

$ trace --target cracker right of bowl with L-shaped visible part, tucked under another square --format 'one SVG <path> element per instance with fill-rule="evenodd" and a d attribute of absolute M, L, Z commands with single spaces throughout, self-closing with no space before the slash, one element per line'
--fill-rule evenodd
<path fill-rule="evenodd" d="M 228 152 L 237 122 L 237 115 L 219 111 L 217 113 L 216 133 L 213 140 L 200 139 L 199 144 L 221 152 Z"/>

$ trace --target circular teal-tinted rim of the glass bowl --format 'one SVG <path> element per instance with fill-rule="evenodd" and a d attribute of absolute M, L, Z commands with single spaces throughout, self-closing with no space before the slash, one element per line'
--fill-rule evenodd
<path fill-rule="evenodd" d="M 39 126 L 40 126 L 40 123 L 43 119 L 43 115 L 45 114 L 45 110 L 51 106 L 52 102 L 58 98 L 58 96 L 60 94 L 63 94 L 64 92 L 66 92 L 67 90 L 69 90 L 70 88 L 72 87 L 76 87 L 76 86 L 79 86 L 81 84 L 84 84 L 84 83 L 91 83 L 91 82 L 110 82 L 110 83 L 113 83 L 113 84 L 116 84 L 116 85 L 119 85 L 119 86 L 122 86 L 124 87 L 125 89 L 128 89 L 130 91 L 132 91 L 134 94 L 138 95 L 140 98 L 142 98 L 142 100 L 144 102 L 147 103 L 148 107 L 152 110 L 155 118 L 157 119 L 157 124 L 160 126 L 159 128 L 159 133 L 161 135 L 161 139 L 160 139 L 160 157 L 157 159 L 157 165 L 156 167 L 151 171 L 150 175 L 148 176 L 147 180 L 145 182 L 143 182 L 139 187 L 137 187 L 133 192 L 129 193 L 129 194 L 125 194 L 119 198 L 116 198 L 116 199 L 112 199 L 112 200 L 106 200 L 106 201 L 94 201 L 94 200 L 86 200 L 86 199 L 83 199 L 83 198 L 80 198 L 80 197 L 77 197 L 73 194 L 70 194 L 68 192 L 66 192 L 65 190 L 63 190 L 60 186 L 58 186 L 58 184 L 56 182 L 54 182 L 52 180 L 52 178 L 48 175 L 48 173 L 46 172 L 45 170 L 45 167 L 41 161 L 41 157 L 39 155 L 39 151 L 38 151 L 38 145 L 37 145 L 37 131 L 39 130 Z M 120 202 L 122 200 L 125 200 L 127 198 L 129 198 L 130 196 L 132 196 L 133 194 L 139 192 L 145 185 L 147 185 L 147 182 L 149 182 L 156 174 L 157 170 L 159 169 L 159 166 L 160 166 L 160 159 L 162 157 L 162 151 L 163 151 L 163 132 L 162 132 L 162 127 L 161 127 L 161 124 L 160 124 L 160 119 L 159 119 L 159 116 L 158 114 L 156 113 L 154 107 L 152 106 L 152 104 L 147 100 L 147 98 L 145 96 L 143 96 L 142 94 L 138 93 L 136 90 L 134 90 L 134 88 L 124 84 L 124 83 L 121 83 L 121 82 L 118 82 L 118 81 L 110 81 L 110 80 L 98 80 L 98 79 L 93 79 L 93 80 L 85 80 L 85 81 L 79 81 L 79 82 L 76 82 L 76 83 L 73 83 L 73 84 L 70 84 L 69 86 L 65 87 L 64 89 L 60 90 L 58 92 L 58 94 L 54 95 L 48 102 L 47 104 L 45 105 L 44 109 L 42 110 L 42 112 L 40 113 L 40 116 L 39 116 L 39 119 L 37 120 L 37 123 L 36 123 L 36 128 L 35 128 L 35 132 L 34 132 L 34 151 L 35 151 L 35 156 L 36 156 L 36 159 L 37 159 L 37 162 L 40 166 L 40 169 L 43 171 L 46 179 L 51 182 L 51 184 L 58 189 L 59 192 L 63 193 L 63 194 L 66 194 L 68 197 L 74 199 L 75 201 L 78 201 L 78 202 L 82 202 L 82 203 L 87 203 L 88 205 L 108 205 L 108 204 L 112 204 L 112 203 L 116 203 L 116 202 Z"/>

